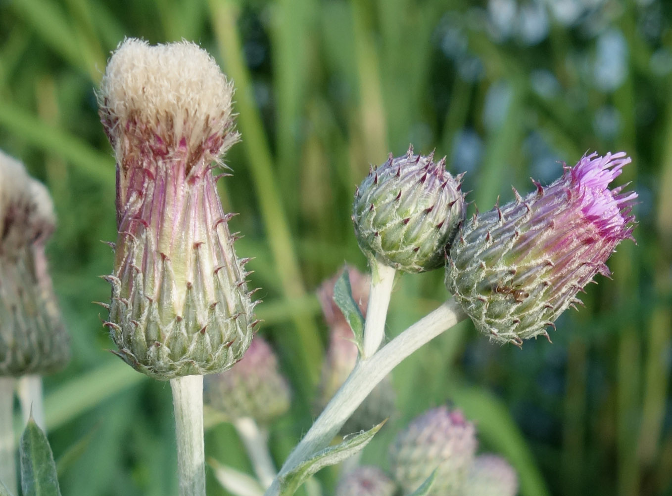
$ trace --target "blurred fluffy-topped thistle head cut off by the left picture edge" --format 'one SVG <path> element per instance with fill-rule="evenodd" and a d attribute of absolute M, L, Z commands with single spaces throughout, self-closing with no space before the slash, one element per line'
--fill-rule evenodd
<path fill-rule="evenodd" d="M 44 251 L 55 226 L 46 187 L 0 152 L 0 375 L 53 373 L 70 359 Z"/>

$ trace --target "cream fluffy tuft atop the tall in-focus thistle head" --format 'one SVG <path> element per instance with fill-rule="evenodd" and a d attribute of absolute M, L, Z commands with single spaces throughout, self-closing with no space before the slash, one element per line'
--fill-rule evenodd
<path fill-rule="evenodd" d="M 203 154 L 208 163 L 215 160 L 238 140 L 232 97 L 233 84 L 198 45 L 150 46 L 129 38 L 108 62 L 98 103 L 118 155 L 150 148 L 160 156 L 182 156 L 188 167 Z"/>

